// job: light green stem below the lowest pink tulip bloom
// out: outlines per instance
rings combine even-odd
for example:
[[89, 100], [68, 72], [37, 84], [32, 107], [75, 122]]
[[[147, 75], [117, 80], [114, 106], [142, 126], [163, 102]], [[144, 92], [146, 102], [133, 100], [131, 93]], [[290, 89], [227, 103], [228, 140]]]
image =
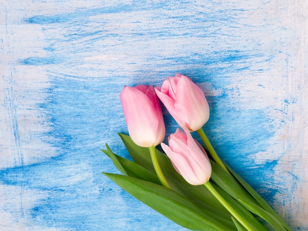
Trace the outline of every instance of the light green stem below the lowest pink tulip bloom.
[[243, 219], [243, 217], [241, 217], [241, 215], [238, 214], [238, 212], [228, 202], [226, 202], [226, 200], [224, 200], [224, 198], [216, 191], [210, 181], [207, 181], [204, 185], [213, 194], [213, 196], [231, 213], [231, 215], [236, 220], [238, 220], [242, 224], [242, 226], [245, 227], [246, 230], [255, 231], [255, 229], [251, 227], [251, 225], [246, 222], [246, 220]]

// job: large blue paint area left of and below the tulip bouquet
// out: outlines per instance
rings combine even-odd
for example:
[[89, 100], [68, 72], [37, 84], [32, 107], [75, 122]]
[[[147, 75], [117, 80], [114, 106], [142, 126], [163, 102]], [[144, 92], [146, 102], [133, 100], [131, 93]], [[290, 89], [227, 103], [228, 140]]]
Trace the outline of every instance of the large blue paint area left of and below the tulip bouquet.
[[[138, 230], [154, 216], [155, 220], [159, 218], [157, 229], [167, 225], [177, 230], [178, 225], [133, 199], [101, 173], [116, 171], [100, 151], [105, 148], [102, 137], [116, 153], [125, 153], [116, 134], [125, 129], [119, 101], [123, 85], [110, 88], [107, 81], [93, 85], [92, 81], [64, 76], [53, 76], [52, 85], [48, 103], [41, 107], [52, 115], [48, 121], [52, 124], [50, 136], [57, 141], [52, 145], [60, 155], [0, 171], [2, 184], [27, 186], [48, 195], [31, 209], [31, 223], [64, 230]], [[122, 200], [115, 201], [115, 197]], [[126, 222], [140, 214], [143, 219], [138, 223]]]

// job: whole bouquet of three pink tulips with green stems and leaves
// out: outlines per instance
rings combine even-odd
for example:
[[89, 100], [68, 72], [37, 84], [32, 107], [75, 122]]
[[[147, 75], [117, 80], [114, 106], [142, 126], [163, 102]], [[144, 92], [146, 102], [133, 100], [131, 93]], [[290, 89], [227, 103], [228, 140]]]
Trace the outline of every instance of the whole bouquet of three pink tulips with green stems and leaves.
[[[291, 231], [274, 209], [217, 155], [202, 126], [203, 91], [181, 74], [162, 87], [124, 86], [120, 94], [129, 136], [119, 134], [133, 161], [102, 151], [122, 174], [104, 173], [129, 194], [190, 230]], [[162, 143], [160, 101], [179, 126]], [[190, 132], [197, 131], [203, 144]], [[156, 149], [160, 144], [161, 152]]]

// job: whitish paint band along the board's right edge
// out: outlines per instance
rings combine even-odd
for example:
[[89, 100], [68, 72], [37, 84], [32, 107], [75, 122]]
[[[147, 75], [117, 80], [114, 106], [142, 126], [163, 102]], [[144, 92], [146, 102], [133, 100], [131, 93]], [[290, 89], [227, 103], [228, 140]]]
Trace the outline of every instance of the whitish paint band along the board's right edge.
[[[273, 172], [277, 182], [273, 188], [278, 190], [275, 208], [296, 227], [307, 225], [308, 220], [308, 3], [271, 1], [265, 7], [263, 14], [252, 15], [247, 24], [266, 21], [275, 27], [255, 31], [251, 34], [255, 38], [250, 38], [262, 38], [264, 54], [274, 57], [271, 67], [259, 74], [247, 70], [232, 76], [230, 89], [234, 91], [230, 96], [234, 108], [262, 109], [273, 120], [276, 134], [268, 141], [268, 149], [250, 158], [256, 164], [277, 161]], [[254, 69], [264, 68], [257, 63]], [[279, 182], [288, 182], [284, 184], [288, 188]]]

